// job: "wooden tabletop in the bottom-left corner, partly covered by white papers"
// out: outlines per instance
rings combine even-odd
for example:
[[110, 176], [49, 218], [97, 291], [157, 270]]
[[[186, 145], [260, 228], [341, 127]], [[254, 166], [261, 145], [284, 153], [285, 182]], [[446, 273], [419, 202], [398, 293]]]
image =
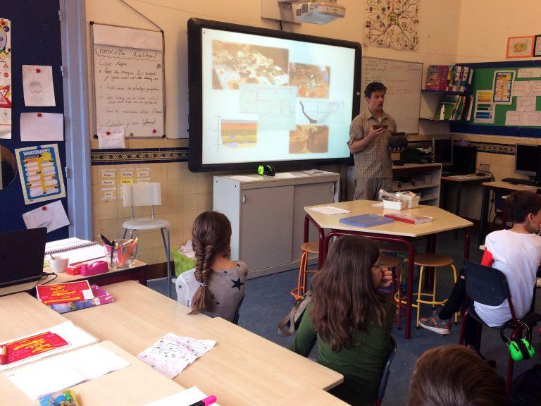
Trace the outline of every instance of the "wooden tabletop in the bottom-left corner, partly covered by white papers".
[[[185, 389], [152, 369], [129, 352], [109, 341], [97, 343], [130, 362], [130, 366], [73, 386], [77, 400], [85, 406], [147, 405]], [[19, 388], [0, 373], [0, 403], [2, 405], [35, 406]], [[325, 405], [325, 403], [321, 403]]]

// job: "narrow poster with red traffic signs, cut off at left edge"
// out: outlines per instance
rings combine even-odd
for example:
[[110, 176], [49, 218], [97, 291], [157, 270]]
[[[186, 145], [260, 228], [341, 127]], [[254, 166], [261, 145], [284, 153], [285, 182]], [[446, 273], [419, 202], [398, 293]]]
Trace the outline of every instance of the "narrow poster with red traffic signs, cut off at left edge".
[[0, 138], [11, 138], [11, 22], [0, 18]]

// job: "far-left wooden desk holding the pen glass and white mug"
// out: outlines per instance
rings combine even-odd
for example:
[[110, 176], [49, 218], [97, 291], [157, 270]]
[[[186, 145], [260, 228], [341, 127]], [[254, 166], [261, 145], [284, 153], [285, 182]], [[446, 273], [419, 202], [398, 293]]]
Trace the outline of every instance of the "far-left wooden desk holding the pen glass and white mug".
[[[104, 258], [102, 258], [104, 259]], [[99, 261], [99, 259], [93, 259], [90, 262]], [[53, 269], [47, 267], [43, 269], [44, 272], [52, 273]], [[87, 279], [89, 283], [96, 283], [97, 285], [108, 285], [110, 283], [118, 283], [122, 281], [135, 280], [139, 281], [142, 285], [147, 285], [147, 264], [136, 260], [133, 266], [126, 269], [111, 269], [107, 273], [100, 273], [94, 276], [81, 276], [81, 275], [69, 275], [66, 272], [58, 273], [58, 277], [52, 280], [52, 276], [47, 276], [39, 281], [39, 285], [43, 285], [46, 282], [49, 283], [66, 283], [75, 281], [84, 281]], [[0, 288], [0, 297], [4, 295], [11, 295], [12, 293], [25, 292], [32, 290], [36, 285], [36, 281], [18, 283], [17, 285], [7, 286], [6, 288]]]

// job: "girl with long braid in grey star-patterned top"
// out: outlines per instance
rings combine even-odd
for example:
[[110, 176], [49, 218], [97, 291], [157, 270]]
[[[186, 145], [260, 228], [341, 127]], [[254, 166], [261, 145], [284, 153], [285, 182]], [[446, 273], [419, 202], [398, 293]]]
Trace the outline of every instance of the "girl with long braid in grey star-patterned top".
[[244, 297], [248, 269], [244, 262], [232, 262], [231, 224], [218, 211], [199, 214], [192, 228], [197, 264], [180, 273], [176, 288], [178, 302], [192, 308], [190, 314], [204, 313], [233, 321]]

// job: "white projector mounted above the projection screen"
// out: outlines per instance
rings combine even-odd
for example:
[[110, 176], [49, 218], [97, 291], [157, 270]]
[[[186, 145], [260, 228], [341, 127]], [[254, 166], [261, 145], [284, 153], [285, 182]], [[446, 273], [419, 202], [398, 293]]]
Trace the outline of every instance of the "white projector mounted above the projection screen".
[[272, 20], [326, 24], [345, 15], [337, 0], [261, 0], [261, 17]]

